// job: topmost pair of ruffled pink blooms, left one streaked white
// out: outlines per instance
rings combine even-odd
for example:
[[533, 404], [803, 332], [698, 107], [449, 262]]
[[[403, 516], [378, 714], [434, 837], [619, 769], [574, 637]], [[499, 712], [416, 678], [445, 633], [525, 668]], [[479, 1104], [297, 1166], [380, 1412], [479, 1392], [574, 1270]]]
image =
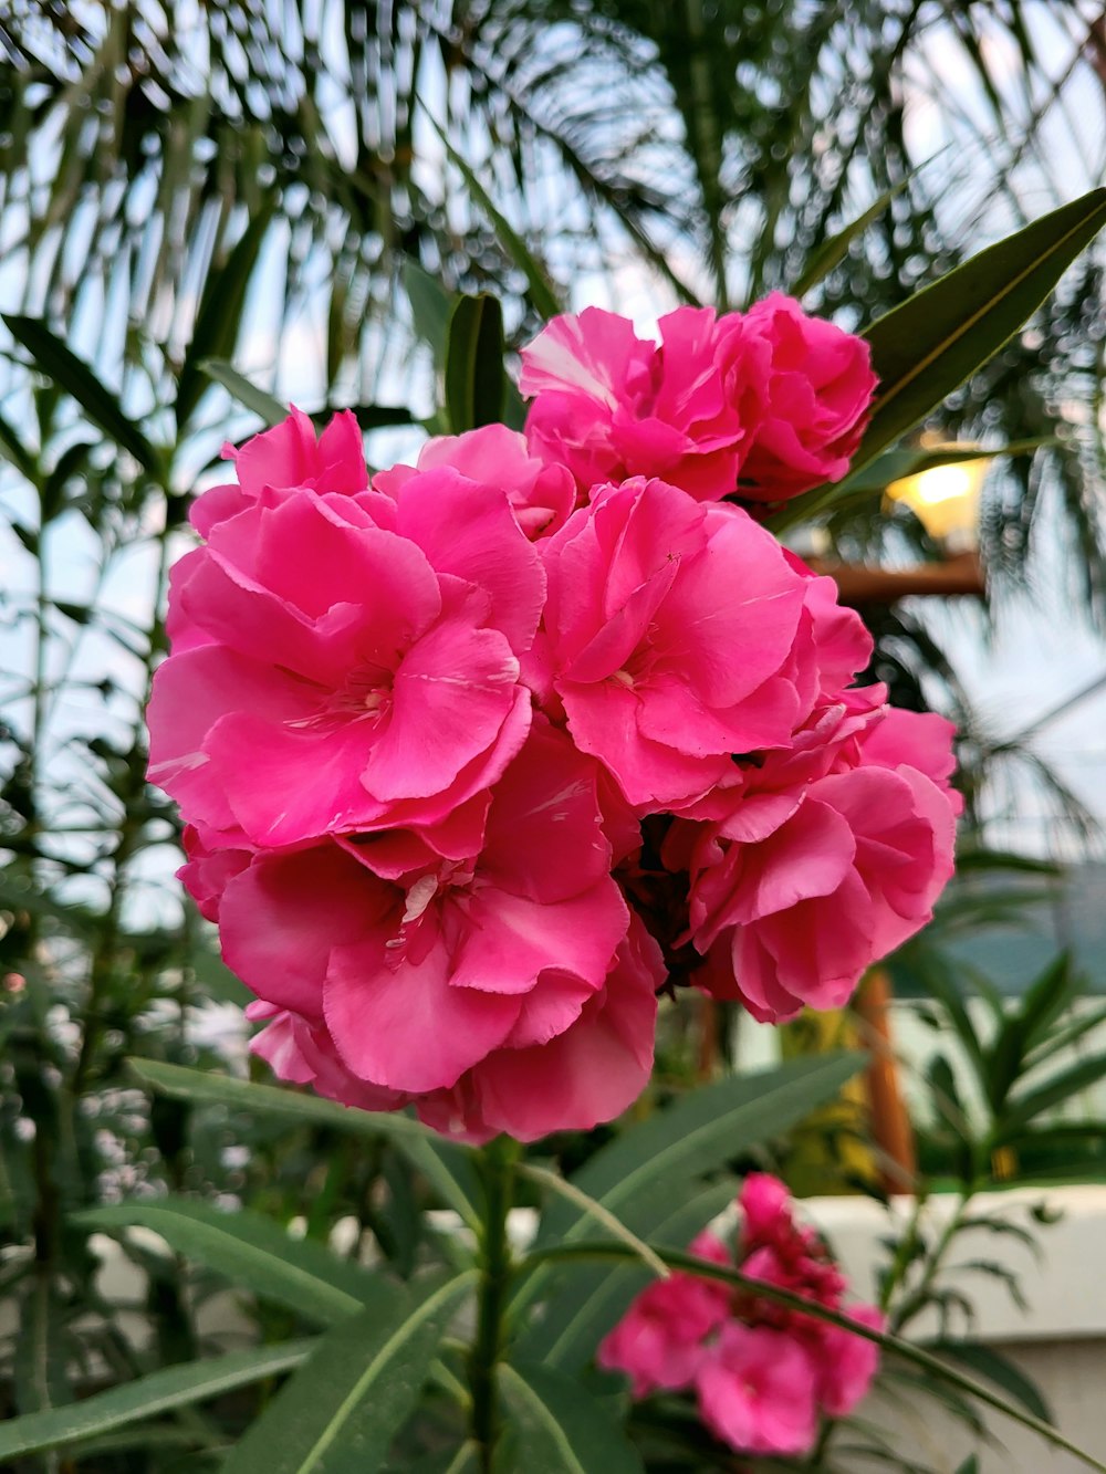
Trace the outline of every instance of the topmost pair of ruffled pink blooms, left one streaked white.
[[845, 475], [876, 386], [863, 339], [779, 292], [745, 315], [681, 307], [659, 326], [655, 345], [587, 308], [522, 349], [537, 455], [582, 491], [659, 476], [699, 501], [783, 501]]

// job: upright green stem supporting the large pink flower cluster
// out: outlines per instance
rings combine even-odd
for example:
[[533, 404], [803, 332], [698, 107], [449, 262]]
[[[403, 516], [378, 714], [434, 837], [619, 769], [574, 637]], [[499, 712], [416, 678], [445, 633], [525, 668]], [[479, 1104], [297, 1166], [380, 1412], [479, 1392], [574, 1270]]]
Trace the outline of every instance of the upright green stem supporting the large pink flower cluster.
[[479, 1449], [481, 1474], [491, 1474], [498, 1437], [495, 1366], [503, 1355], [504, 1310], [513, 1272], [507, 1240], [518, 1144], [509, 1136], [488, 1142], [481, 1157], [485, 1213], [479, 1237], [481, 1281], [476, 1340], [469, 1356], [472, 1440]]

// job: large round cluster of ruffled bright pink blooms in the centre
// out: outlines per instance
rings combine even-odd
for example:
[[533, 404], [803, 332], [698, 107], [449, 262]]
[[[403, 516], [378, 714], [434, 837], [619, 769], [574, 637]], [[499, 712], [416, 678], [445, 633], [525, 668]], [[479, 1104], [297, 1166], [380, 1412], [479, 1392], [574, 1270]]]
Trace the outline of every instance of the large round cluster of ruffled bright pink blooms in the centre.
[[585, 1129], [667, 974], [786, 1019], [929, 917], [950, 728], [851, 687], [860, 619], [727, 500], [844, 473], [867, 349], [779, 296], [662, 329], [553, 321], [525, 436], [370, 482], [351, 414], [293, 411], [196, 500], [150, 777], [282, 1077]]

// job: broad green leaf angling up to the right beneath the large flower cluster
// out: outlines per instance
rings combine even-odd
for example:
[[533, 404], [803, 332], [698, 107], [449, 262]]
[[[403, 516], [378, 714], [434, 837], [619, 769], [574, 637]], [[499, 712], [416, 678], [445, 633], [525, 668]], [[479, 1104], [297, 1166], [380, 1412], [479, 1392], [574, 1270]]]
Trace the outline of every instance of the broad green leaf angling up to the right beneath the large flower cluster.
[[[858, 1054], [823, 1054], [702, 1086], [603, 1147], [571, 1181], [634, 1232], [650, 1232], [633, 1216], [639, 1204], [652, 1200], [655, 1212], [665, 1212], [686, 1182], [802, 1120], [863, 1063]], [[535, 1243], [560, 1243], [590, 1228], [578, 1209], [556, 1203], [543, 1215]]]

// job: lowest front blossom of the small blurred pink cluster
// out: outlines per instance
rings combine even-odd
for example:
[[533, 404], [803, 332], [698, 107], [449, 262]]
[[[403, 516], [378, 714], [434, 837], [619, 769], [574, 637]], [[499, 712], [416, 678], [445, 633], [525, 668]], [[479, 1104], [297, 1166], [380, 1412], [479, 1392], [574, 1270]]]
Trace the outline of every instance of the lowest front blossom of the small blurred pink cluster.
[[730, 1321], [695, 1378], [699, 1412], [742, 1453], [807, 1453], [817, 1436], [817, 1371], [785, 1331]]

